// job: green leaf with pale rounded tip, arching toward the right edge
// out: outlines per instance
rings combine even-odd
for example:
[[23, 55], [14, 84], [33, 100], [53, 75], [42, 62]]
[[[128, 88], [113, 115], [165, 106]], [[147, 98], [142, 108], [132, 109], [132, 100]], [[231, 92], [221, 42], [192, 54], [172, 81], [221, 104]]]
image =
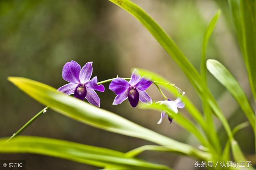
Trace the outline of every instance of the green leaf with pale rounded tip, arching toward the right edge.
[[244, 111], [246, 117], [248, 118], [252, 128], [255, 130], [255, 116], [250, 106], [250, 103], [236, 81], [232, 74], [222, 65], [219, 61], [214, 59], [209, 59], [207, 61], [207, 68], [212, 73], [212, 75], [228, 89], [231, 95], [234, 97], [236, 102], [240, 105], [241, 109]]

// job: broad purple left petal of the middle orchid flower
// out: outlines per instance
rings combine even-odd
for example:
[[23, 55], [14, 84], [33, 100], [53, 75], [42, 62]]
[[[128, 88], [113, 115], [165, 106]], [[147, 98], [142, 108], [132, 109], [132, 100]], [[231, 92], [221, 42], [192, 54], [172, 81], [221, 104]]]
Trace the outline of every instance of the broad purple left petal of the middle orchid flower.
[[122, 78], [116, 78], [112, 80], [109, 85], [109, 89], [114, 91], [116, 95], [121, 95], [129, 87], [130, 87], [130, 84], [128, 83], [128, 81]]

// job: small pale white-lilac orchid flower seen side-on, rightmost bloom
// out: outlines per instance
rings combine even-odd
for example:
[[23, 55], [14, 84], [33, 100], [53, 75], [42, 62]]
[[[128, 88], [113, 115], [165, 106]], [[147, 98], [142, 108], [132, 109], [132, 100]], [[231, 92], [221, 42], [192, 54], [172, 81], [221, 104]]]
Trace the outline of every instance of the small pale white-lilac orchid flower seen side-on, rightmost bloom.
[[[182, 92], [182, 96], [185, 94], [185, 92]], [[174, 111], [174, 113], [178, 113], [178, 108], [182, 109], [185, 107], [185, 104], [181, 101], [181, 99], [178, 97], [176, 100], [165, 100], [165, 101], [158, 101], [156, 103], [159, 103], [160, 105], [166, 105], [169, 109], [171, 109], [172, 111]], [[164, 119], [164, 116], [166, 116], [170, 122], [170, 124], [172, 123], [172, 118], [170, 118], [167, 114], [166, 111], [162, 111], [161, 112], [161, 118], [158, 121], [157, 124], [162, 123], [162, 120]]]

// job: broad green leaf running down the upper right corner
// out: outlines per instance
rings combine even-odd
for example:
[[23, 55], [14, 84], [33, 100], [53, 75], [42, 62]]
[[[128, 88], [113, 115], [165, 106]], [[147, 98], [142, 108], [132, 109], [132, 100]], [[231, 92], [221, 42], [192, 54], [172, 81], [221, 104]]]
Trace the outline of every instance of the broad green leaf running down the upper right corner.
[[256, 2], [254, 0], [229, 0], [238, 43], [256, 100]]

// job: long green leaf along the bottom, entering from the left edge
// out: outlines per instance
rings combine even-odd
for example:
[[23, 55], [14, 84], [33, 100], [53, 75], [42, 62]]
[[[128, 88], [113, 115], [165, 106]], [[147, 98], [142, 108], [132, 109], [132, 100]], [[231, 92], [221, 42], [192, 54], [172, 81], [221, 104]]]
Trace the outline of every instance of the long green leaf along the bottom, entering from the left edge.
[[54, 156], [93, 166], [108, 165], [133, 169], [169, 169], [167, 166], [127, 158], [122, 152], [65, 140], [18, 136], [9, 142], [0, 139], [0, 153], [32, 153]]

